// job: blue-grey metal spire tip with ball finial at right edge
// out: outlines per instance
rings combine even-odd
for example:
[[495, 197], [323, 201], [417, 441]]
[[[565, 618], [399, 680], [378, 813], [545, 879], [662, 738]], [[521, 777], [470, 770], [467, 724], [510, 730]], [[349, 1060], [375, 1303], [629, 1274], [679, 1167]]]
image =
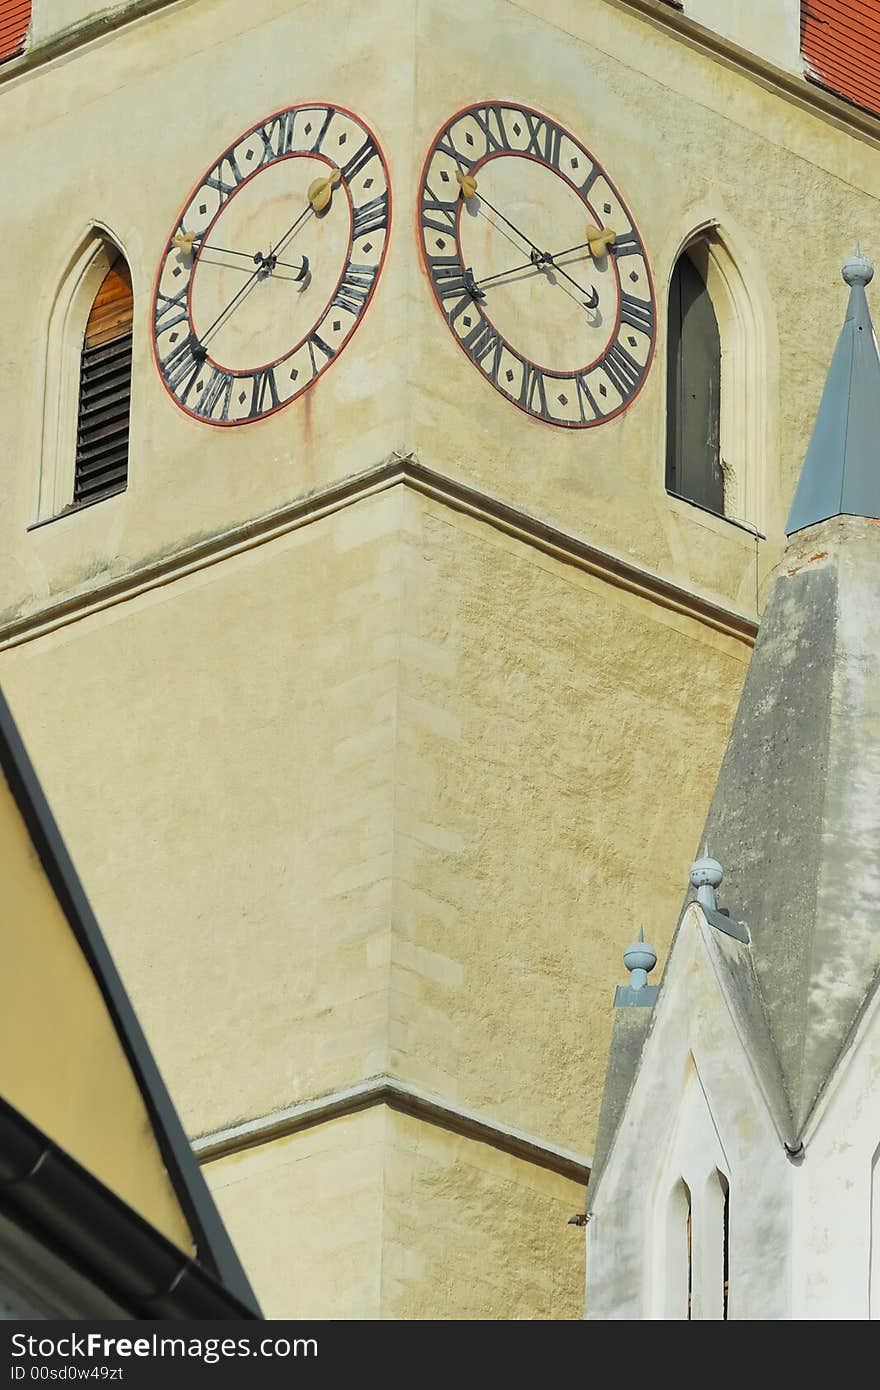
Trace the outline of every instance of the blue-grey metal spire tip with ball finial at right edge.
[[829, 367], [785, 532], [836, 516], [880, 516], [880, 356], [865, 286], [874, 268], [856, 247], [842, 267], [847, 318]]

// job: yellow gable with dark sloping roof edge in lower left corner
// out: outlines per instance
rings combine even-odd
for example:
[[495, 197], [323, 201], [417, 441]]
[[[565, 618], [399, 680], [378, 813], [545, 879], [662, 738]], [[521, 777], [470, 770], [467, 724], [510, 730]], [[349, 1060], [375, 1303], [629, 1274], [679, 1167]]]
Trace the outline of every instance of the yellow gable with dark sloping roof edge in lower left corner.
[[259, 1316], [3, 695], [0, 771], [0, 1215], [114, 1297], [136, 1248], [153, 1316]]

